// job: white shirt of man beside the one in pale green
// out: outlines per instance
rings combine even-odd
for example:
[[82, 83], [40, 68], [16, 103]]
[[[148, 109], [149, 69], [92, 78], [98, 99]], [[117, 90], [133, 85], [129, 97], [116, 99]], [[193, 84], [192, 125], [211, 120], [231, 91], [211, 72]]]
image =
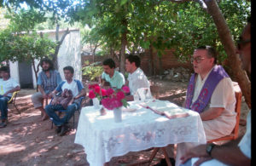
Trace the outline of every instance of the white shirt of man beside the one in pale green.
[[137, 89], [140, 88], [148, 88], [149, 89], [149, 81], [145, 76], [143, 70], [141, 68], [137, 68], [135, 72], [129, 73], [127, 80], [129, 81], [129, 88], [131, 94], [133, 95], [137, 92]]

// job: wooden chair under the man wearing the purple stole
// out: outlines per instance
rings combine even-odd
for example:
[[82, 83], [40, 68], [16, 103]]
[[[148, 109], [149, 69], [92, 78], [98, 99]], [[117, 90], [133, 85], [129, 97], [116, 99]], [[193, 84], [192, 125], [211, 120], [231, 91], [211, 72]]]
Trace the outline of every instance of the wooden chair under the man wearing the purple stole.
[[238, 85], [238, 83], [233, 82], [233, 86], [235, 89], [235, 94], [236, 94], [236, 107], [235, 107], [235, 112], [236, 112], [236, 125], [235, 128], [233, 129], [232, 133], [230, 135], [214, 139], [214, 140], [208, 140], [207, 143], [212, 143], [212, 142], [217, 142], [221, 140], [236, 140], [238, 137], [239, 133], [239, 121], [240, 121], [240, 114], [241, 114], [241, 89]]

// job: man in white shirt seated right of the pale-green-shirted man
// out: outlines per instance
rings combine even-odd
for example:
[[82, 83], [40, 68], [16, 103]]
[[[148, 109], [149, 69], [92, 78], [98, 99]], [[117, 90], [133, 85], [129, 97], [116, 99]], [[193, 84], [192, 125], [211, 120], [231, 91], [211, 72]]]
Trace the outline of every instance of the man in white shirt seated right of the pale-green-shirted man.
[[131, 95], [126, 96], [126, 100], [133, 100], [133, 95], [140, 88], [150, 88], [150, 83], [143, 70], [140, 68], [141, 60], [137, 55], [130, 54], [125, 58], [125, 70], [129, 72], [126, 86], [129, 86]]

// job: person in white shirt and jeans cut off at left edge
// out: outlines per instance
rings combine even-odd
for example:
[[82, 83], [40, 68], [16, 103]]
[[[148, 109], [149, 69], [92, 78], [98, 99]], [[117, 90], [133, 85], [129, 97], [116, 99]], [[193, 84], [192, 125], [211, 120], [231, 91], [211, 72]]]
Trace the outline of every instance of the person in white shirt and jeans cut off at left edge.
[[2, 76], [2, 79], [0, 79], [0, 128], [4, 128], [8, 120], [8, 101], [11, 99], [13, 92], [20, 90], [20, 85], [10, 77], [8, 66], [1, 67], [0, 75]]

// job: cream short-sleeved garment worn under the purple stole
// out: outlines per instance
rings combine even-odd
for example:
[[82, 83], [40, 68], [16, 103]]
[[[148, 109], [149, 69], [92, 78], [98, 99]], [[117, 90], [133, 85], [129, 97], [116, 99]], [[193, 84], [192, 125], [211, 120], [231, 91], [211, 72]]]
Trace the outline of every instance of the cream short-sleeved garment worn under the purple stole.
[[[198, 95], [200, 94], [210, 72], [207, 73], [204, 80], [202, 80], [201, 76], [198, 74], [192, 103], [197, 100]], [[207, 111], [209, 107], [221, 107], [224, 108], [224, 111], [220, 116], [212, 120], [203, 121], [207, 140], [216, 139], [224, 135], [230, 135], [236, 125], [236, 95], [230, 77], [224, 77], [221, 81], [219, 81], [218, 85], [213, 90], [211, 100], [204, 111]]]

